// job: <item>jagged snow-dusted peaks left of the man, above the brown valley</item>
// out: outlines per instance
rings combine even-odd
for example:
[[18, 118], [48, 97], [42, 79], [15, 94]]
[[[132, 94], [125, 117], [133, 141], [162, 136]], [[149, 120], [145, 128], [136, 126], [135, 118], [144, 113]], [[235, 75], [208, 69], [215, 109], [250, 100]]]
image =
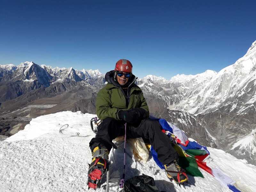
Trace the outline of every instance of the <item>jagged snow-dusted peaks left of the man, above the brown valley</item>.
[[[78, 73], [78, 74], [77, 74]], [[50, 84], [62, 83], [65, 87], [93, 85], [102, 87], [105, 83], [103, 75], [99, 70], [78, 71], [71, 68], [52, 68], [47, 65], [37, 65], [33, 61], [20, 63], [19, 66], [1, 65], [0, 83], [4, 90], [0, 94], [0, 101], [14, 99], [22, 94]]]

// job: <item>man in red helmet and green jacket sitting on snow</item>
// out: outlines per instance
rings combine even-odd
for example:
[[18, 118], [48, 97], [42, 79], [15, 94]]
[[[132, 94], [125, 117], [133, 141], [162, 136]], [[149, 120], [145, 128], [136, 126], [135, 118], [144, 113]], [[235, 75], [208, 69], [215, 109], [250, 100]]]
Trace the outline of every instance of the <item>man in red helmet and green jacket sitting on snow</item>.
[[161, 131], [156, 120], [148, 119], [148, 105], [140, 87], [135, 83], [132, 63], [129, 60], [116, 62], [115, 70], [105, 75], [108, 84], [103, 87], [96, 99], [96, 113], [103, 120], [98, 132], [90, 141], [92, 163], [88, 171], [88, 185], [95, 186], [106, 172], [108, 154], [112, 140], [125, 134], [127, 138], [142, 137], [149, 141], [157, 152], [158, 159], [164, 164], [166, 175], [176, 183], [188, 181], [183, 169], [177, 164], [178, 154], [172, 147], [170, 139]]

